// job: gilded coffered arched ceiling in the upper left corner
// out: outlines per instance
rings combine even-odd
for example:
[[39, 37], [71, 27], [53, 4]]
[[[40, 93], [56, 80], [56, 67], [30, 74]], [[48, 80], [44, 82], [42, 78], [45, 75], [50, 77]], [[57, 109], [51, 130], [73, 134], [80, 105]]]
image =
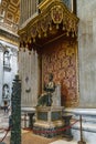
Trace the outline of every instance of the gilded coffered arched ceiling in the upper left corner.
[[15, 32], [20, 19], [20, 0], [1, 0], [0, 25]]

